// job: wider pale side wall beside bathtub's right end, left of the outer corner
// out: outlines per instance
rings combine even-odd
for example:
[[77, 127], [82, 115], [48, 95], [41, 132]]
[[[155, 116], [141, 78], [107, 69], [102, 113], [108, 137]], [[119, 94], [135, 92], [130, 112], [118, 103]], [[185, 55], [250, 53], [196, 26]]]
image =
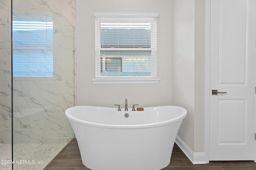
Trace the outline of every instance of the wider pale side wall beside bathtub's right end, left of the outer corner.
[[194, 150], [194, 0], [173, 0], [172, 104], [187, 109], [178, 136]]

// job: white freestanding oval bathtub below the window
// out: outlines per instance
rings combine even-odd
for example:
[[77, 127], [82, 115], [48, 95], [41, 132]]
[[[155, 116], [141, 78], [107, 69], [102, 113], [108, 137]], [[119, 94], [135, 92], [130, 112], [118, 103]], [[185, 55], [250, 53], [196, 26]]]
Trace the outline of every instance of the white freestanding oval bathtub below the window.
[[75, 106], [65, 113], [86, 167], [159, 170], [170, 163], [174, 141], [187, 111], [178, 106], [146, 107], [144, 111]]

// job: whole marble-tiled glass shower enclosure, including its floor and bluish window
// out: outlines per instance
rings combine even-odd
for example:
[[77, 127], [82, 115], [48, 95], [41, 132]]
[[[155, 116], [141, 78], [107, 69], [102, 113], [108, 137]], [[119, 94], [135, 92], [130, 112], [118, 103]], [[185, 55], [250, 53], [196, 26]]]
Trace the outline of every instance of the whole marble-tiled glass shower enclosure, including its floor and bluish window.
[[0, 0], [0, 169], [42, 170], [74, 137], [74, 3]]

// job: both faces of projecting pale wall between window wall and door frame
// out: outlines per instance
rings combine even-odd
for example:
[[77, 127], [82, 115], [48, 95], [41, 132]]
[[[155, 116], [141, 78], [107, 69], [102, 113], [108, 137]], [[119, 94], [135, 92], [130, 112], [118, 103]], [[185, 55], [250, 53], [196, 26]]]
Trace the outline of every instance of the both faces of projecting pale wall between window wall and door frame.
[[172, 37], [172, 104], [188, 111], [178, 136], [204, 152], [204, 0], [173, 0]]

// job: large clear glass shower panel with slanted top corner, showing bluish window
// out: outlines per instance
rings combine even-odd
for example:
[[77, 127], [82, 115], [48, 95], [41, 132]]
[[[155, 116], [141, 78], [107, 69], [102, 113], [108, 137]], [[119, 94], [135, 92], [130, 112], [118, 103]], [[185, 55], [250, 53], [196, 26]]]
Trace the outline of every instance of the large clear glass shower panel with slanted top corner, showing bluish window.
[[50, 0], [13, 0], [12, 39], [13, 159], [27, 161], [13, 166], [41, 170], [74, 137], [74, 27]]

